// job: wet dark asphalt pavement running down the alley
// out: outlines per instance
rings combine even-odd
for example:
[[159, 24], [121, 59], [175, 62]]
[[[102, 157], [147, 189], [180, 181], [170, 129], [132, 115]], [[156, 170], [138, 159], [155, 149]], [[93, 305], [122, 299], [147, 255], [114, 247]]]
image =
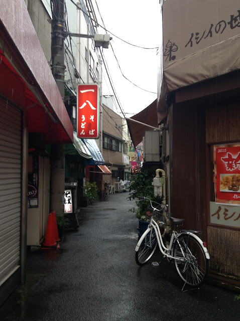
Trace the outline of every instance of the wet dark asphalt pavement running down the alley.
[[0, 307], [15, 321], [239, 321], [235, 292], [204, 283], [182, 292], [173, 264], [135, 262], [138, 221], [129, 193], [81, 208], [59, 250], [29, 252], [27, 284]]

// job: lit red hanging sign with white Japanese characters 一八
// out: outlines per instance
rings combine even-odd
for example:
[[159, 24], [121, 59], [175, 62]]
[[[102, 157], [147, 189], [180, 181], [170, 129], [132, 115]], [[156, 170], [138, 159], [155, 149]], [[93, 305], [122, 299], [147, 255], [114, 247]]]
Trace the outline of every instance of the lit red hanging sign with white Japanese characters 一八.
[[92, 139], [99, 137], [98, 86], [96, 84], [78, 85], [77, 136]]

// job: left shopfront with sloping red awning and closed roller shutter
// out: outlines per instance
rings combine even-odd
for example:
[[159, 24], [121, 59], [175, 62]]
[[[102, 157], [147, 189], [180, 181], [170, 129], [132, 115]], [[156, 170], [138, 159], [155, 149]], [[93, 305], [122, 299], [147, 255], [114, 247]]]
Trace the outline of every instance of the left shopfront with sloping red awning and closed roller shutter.
[[[49, 159], [42, 147], [46, 143], [73, 141], [71, 121], [25, 1], [3, 1], [2, 6], [0, 13], [1, 302], [20, 282], [25, 282], [29, 209], [33, 211], [32, 218], [40, 219], [38, 238], [44, 234], [45, 213], [49, 212], [49, 208], [44, 207], [49, 201], [45, 202], [44, 199], [49, 199], [49, 193], [48, 190], [46, 194], [43, 191], [45, 184], [48, 186], [49, 175], [44, 176], [43, 173], [49, 171]], [[31, 184], [29, 184], [30, 178]]]

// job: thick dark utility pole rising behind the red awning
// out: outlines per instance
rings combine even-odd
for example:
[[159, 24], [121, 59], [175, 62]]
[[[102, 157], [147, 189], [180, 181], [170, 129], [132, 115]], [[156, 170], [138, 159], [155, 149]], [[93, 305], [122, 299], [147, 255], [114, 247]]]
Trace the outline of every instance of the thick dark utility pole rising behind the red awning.
[[[52, 2], [52, 74], [64, 100], [64, 39], [65, 39], [65, 0]], [[50, 181], [50, 211], [64, 213], [65, 184], [65, 145], [52, 144], [51, 148], [51, 181]]]

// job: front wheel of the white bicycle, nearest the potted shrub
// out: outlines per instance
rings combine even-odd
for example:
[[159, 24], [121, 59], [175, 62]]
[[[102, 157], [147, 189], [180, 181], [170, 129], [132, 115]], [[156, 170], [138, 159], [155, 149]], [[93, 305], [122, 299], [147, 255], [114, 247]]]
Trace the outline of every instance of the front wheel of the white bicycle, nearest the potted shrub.
[[152, 230], [143, 238], [138, 251], [136, 252], [136, 262], [143, 265], [150, 260], [158, 244], [155, 230]]

